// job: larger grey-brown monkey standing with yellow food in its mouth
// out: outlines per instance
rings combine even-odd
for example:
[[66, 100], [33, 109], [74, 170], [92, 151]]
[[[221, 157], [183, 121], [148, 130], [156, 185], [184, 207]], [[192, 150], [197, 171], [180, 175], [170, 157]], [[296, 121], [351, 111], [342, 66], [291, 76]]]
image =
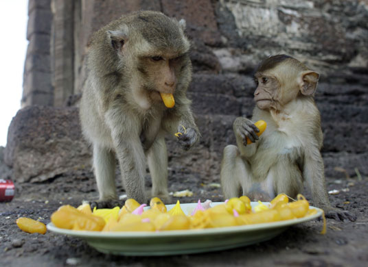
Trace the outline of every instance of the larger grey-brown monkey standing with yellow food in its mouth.
[[[185, 21], [161, 12], [135, 12], [93, 34], [89, 74], [80, 103], [84, 135], [93, 144], [98, 207], [117, 203], [115, 156], [128, 198], [145, 203], [146, 156], [152, 195], [168, 196], [168, 155], [164, 135], [183, 149], [198, 142], [198, 128], [185, 96], [192, 79]], [[174, 97], [170, 107], [161, 93]]]

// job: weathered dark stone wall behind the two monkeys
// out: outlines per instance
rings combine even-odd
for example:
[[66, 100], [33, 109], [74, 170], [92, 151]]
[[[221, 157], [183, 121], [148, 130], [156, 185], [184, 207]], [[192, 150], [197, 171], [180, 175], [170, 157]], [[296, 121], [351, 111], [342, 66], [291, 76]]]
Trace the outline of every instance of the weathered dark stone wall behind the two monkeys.
[[[89, 37], [109, 21], [141, 9], [185, 18], [186, 34], [192, 42], [194, 77], [188, 94], [203, 138], [191, 152], [181, 151], [169, 139], [170, 168], [186, 168], [203, 180], [218, 179], [222, 149], [235, 143], [233, 119], [251, 116], [255, 66], [268, 55], [286, 53], [321, 73], [316, 102], [325, 136], [326, 175], [355, 176], [356, 170], [368, 175], [367, 0], [30, 0], [30, 47], [23, 92], [23, 106], [29, 108], [21, 110], [14, 123], [18, 116], [26, 118], [23, 112], [31, 112], [33, 120], [43, 120], [47, 112], [36, 112], [39, 107], [33, 105], [58, 106], [56, 112], [66, 116], [52, 116], [60, 120], [53, 122], [56, 125], [63, 125], [66, 119], [78, 120], [63, 106], [78, 106], [86, 77], [84, 59]], [[78, 127], [78, 123], [74, 125]], [[21, 136], [13, 131], [23, 129], [10, 127], [5, 162], [14, 168], [20, 158], [16, 153], [21, 153], [24, 142], [12, 140]], [[54, 128], [47, 131], [47, 138], [58, 142], [58, 135], [51, 134]], [[67, 137], [63, 138], [65, 144]], [[27, 140], [27, 149], [42, 151], [40, 142]], [[7, 157], [7, 151], [12, 157]], [[37, 154], [40, 162], [45, 155]], [[82, 157], [89, 156], [83, 152]], [[26, 161], [27, 157], [22, 159]], [[54, 164], [60, 170], [60, 162]], [[64, 170], [67, 168], [71, 166]], [[15, 179], [39, 181], [55, 174], [40, 171]], [[25, 169], [19, 172], [27, 173]]]

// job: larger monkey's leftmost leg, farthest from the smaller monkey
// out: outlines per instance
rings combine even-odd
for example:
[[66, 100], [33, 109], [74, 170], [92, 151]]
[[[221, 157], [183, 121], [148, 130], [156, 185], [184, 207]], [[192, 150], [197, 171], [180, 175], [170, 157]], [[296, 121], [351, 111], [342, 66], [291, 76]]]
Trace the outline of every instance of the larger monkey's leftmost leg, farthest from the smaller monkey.
[[[93, 145], [93, 166], [97, 189], [100, 194], [98, 203], [91, 203], [97, 207], [110, 207], [117, 205], [117, 194], [115, 186], [115, 154], [99, 144]], [[110, 205], [111, 202], [111, 205]]]

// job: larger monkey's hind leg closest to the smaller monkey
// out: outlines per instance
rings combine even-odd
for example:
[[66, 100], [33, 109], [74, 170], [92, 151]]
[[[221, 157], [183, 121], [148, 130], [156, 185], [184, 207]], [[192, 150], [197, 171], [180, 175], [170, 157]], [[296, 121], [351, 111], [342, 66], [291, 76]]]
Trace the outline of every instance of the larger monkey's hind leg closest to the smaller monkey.
[[148, 167], [152, 178], [152, 196], [168, 199], [168, 151], [163, 137], [157, 138], [148, 151]]

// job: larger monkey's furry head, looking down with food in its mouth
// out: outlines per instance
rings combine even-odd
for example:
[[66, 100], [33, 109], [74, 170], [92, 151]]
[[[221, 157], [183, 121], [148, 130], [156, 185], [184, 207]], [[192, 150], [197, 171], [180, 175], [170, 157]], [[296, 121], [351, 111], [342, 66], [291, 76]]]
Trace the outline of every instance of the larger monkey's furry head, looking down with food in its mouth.
[[189, 84], [192, 65], [184, 29], [185, 22], [159, 12], [137, 12], [107, 32], [118, 67], [128, 73], [136, 101], [146, 107], [161, 101], [160, 93], [174, 94]]

